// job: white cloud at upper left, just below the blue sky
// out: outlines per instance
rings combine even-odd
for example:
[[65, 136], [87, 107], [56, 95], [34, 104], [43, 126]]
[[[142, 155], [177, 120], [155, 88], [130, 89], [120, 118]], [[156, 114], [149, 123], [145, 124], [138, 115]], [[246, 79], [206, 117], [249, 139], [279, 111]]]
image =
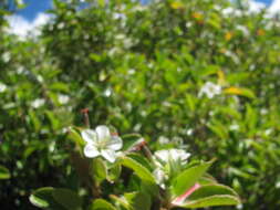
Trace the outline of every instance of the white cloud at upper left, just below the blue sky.
[[29, 34], [39, 35], [39, 28], [45, 24], [51, 19], [50, 14], [39, 13], [33, 21], [28, 21], [21, 15], [11, 15], [7, 20], [10, 24], [8, 32], [19, 35], [20, 38], [27, 38]]

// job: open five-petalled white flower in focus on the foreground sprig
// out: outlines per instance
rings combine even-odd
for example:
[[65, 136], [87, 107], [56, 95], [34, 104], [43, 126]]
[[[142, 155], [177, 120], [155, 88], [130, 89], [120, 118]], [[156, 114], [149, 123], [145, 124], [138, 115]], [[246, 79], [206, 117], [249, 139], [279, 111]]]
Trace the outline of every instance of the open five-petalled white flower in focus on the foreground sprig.
[[92, 129], [84, 129], [82, 137], [86, 141], [84, 155], [89, 158], [102, 156], [106, 160], [114, 162], [117, 153], [123, 147], [123, 140], [115, 135], [111, 135], [108, 127], [100, 125]]

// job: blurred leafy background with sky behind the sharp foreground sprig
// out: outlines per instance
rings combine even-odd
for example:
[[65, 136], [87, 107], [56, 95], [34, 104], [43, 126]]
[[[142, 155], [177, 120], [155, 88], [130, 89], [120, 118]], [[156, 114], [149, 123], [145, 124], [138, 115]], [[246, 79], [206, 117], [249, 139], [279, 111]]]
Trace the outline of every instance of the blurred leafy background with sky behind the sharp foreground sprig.
[[[217, 158], [242, 204], [280, 209], [279, 0], [0, 0], [1, 209], [77, 189], [66, 137], [106, 124]], [[1, 171], [0, 171], [1, 172]], [[219, 208], [214, 208], [219, 209]]]

